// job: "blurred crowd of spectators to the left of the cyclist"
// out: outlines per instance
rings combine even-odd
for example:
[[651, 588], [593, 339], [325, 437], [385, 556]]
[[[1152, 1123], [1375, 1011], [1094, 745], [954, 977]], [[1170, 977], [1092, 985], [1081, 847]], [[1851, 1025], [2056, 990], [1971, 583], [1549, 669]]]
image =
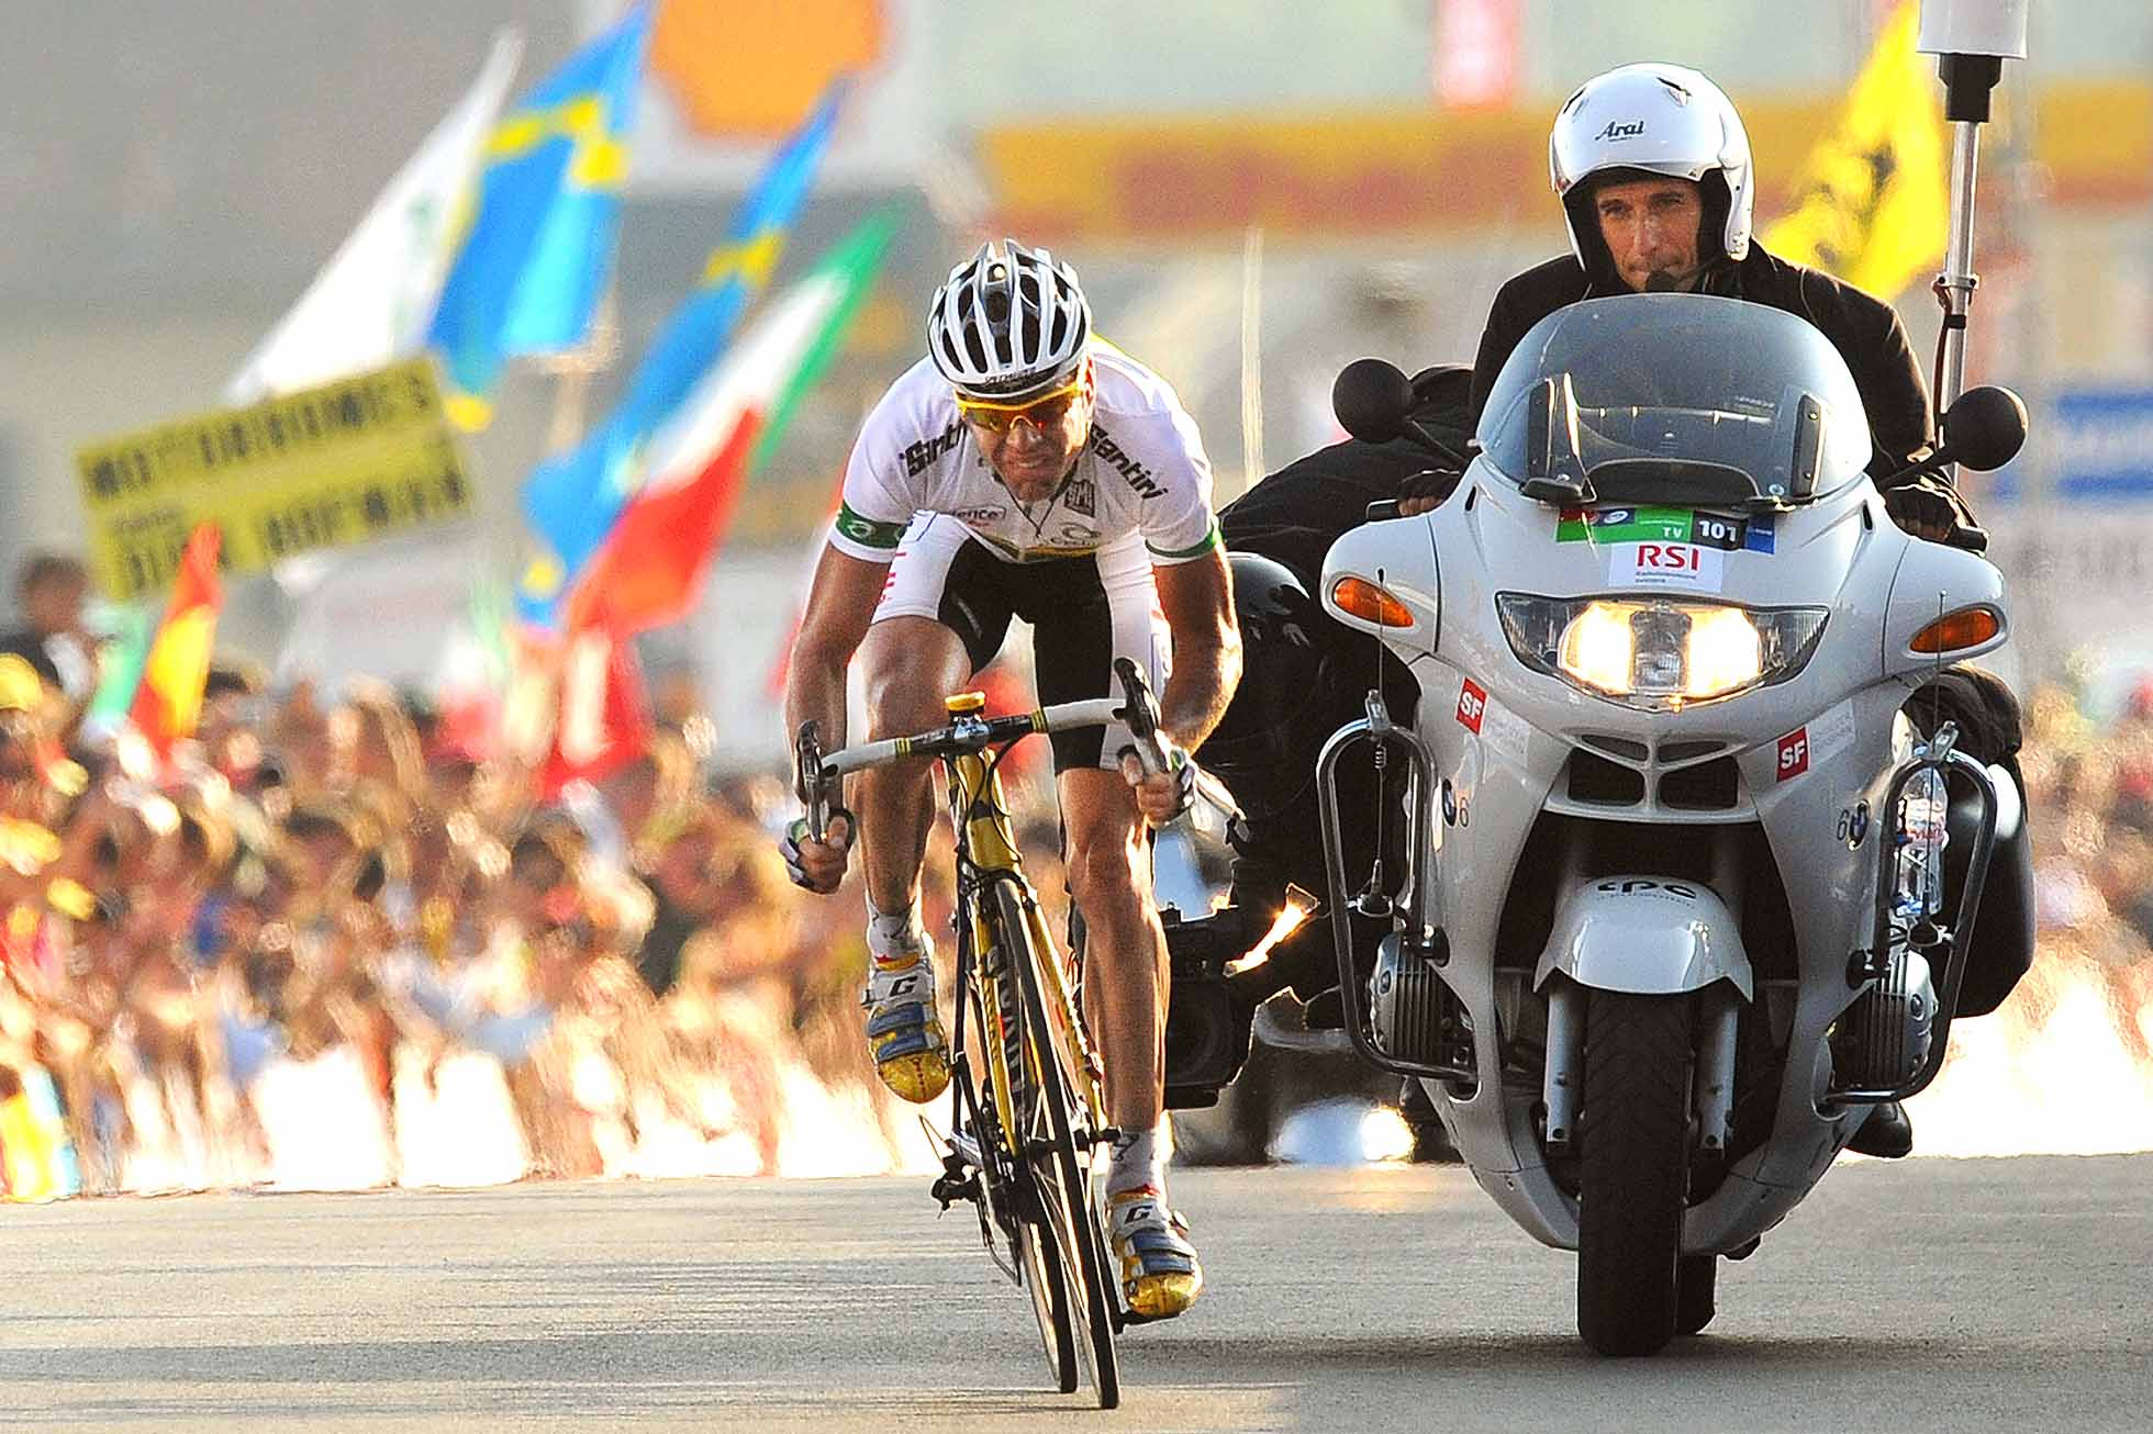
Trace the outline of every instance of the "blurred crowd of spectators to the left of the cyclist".
[[[52, 1186], [24, 1161], [39, 1096], [82, 1191], [127, 1189], [131, 1154], [179, 1130], [245, 1180], [269, 1165], [256, 1081], [332, 1049], [366, 1072], [392, 1156], [398, 1070], [431, 1081], [469, 1051], [504, 1070], [530, 1173], [599, 1173], [599, 1122], [635, 1141], [652, 1115], [745, 1137], [773, 1171], [788, 1068], [919, 1143], [859, 1038], [857, 891], [786, 883], [771, 827], [790, 795], [708, 777], [708, 719], [683, 713], [633, 762], [540, 799], [484, 721], [364, 683], [271, 691], [220, 661], [196, 736], [159, 756], [82, 728], [82, 568], [39, 558], [22, 588], [30, 624], [0, 639], [0, 1169], [17, 1191]], [[592, 1057], [609, 1098], [579, 1079]]]

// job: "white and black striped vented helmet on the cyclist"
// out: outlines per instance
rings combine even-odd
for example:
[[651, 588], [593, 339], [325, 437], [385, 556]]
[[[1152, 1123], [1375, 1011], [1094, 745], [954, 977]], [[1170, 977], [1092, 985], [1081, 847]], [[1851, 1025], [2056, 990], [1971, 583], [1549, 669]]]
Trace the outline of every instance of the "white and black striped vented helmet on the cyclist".
[[1066, 381], [1089, 336], [1076, 271], [1016, 239], [982, 243], [928, 306], [934, 368], [969, 398], [1023, 398]]

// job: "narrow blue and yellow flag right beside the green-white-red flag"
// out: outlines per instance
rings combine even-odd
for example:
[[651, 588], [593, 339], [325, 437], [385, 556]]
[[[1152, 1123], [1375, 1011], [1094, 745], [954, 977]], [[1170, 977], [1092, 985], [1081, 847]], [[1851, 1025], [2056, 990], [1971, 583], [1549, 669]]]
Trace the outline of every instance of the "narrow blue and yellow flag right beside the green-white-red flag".
[[[622, 504], [642, 484], [644, 444], [680, 409], [726, 349], [749, 299], [769, 284], [829, 146], [844, 90], [846, 80], [831, 84], [756, 179], [726, 241], [710, 252], [702, 282], [659, 329], [620, 405], [579, 448], [547, 459], [523, 484], [523, 515], [553, 553], [545, 564], [549, 581], [571, 581], [611, 532]], [[523, 596], [543, 594], [525, 584]]]

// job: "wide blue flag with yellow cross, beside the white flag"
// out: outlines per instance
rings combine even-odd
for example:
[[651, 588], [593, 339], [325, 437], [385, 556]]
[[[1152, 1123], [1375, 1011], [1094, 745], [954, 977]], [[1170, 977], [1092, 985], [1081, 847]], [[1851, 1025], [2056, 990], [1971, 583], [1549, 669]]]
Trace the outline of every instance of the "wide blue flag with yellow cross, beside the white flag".
[[568, 56], [487, 142], [472, 228], [428, 334], [465, 428], [493, 418], [506, 355], [573, 349], [590, 332], [614, 267], [650, 11], [635, 4]]

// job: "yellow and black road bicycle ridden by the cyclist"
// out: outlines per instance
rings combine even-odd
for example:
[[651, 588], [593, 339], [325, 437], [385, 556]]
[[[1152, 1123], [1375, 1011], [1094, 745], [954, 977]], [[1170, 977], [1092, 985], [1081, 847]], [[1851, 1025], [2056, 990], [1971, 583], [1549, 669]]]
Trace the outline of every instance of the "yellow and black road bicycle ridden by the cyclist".
[[1158, 704], [1135, 663], [1115, 661], [1122, 698], [984, 715], [982, 693], [945, 700], [949, 723], [825, 754], [816, 723], [794, 745], [807, 831], [842, 812], [846, 773], [941, 758], [956, 827], [956, 1023], [949, 1135], [934, 1197], [969, 1199], [997, 1268], [1031, 1296], [1049, 1374], [1061, 1393], [1089, 1384], [1122, 1402], [1113, 1339], [1135, 1320], [1120, 1298], [1094, 1189], [1104, 1120], [1102, 1070], [1083, 1021], [1081, 954], [1064, 960], [1025, 878], [1001, 790], [1001, 758], [1025, 736], [1122, 723], [1145, 771], [1163, 771]]

